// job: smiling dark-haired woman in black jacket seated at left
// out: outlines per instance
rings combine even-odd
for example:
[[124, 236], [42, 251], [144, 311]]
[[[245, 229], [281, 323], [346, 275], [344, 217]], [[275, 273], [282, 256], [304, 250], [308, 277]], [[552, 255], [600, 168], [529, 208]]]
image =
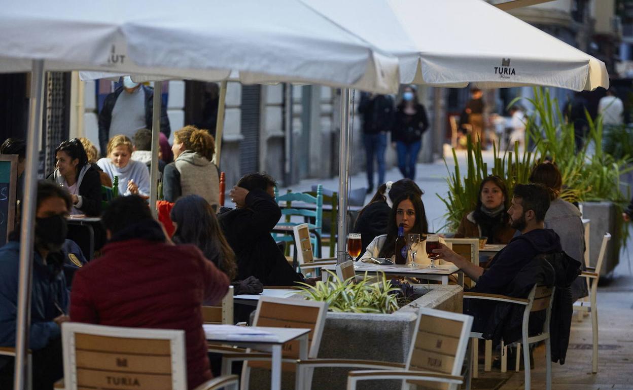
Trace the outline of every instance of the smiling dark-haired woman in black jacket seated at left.
[[85, 154], [84, 146], [73, 138], [55, 149], [56, 169], [49, 176], [70, 192], [73, 209], [70, 214], [101, 215], [101, 177]]

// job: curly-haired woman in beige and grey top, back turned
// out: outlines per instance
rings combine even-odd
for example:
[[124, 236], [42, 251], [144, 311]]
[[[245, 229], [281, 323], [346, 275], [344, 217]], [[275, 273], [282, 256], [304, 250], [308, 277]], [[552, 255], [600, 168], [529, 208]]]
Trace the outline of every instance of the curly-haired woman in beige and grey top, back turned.
[[215, 140], [206, 130], [185, 126], [173, 133], [174, 161], [165, 166], [163, 195], [176, 202], [185, 195], [199, 195], [214, 210], [220, 204], [220, 175], [211, 162]]

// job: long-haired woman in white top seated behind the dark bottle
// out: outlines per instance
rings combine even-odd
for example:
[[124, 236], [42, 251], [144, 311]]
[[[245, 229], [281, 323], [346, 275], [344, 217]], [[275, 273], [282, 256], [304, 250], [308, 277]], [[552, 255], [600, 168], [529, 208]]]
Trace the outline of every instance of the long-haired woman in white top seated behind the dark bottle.
[[403, 224], [405, 236], [407, 233], [425, 235], [429, 232], [429, 223], [424, 211], [424, 204], [417, 193], [403, 193], [394, 201], [389, 221], [387, 222], [387, 234], [374, 238], [367, 246], [367, 252], [360, 259], [385, 257], [386, 259], [394, 260], [396, 238], [398, 238], [398, 226], [400, 224]]

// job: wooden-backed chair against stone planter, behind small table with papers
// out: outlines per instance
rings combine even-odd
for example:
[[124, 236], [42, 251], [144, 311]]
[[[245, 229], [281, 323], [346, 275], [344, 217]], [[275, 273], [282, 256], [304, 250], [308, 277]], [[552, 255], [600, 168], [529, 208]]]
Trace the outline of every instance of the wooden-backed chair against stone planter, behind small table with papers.
[[[308, 334], [308, 358], [316, 358], [321, 344], [327, 302], [295, 300], [262, 296], [257, 304], [253, 326], [289, 327], [311, 329]], [[291, 341], [282, 348], [282, 371], [296, 372], [296, 388], [300, 389], [304, 381], [311, 381], [311, 370], [297, 370], [299, 341]], [[271, 354], [248, 350], [243, 354], [226, 355], [222, 358], [222, 374], [229, 372], [233, 362], [246, 360], [242, 366], [240, 388], [249, 388], [251, 368], [271, 369]]]

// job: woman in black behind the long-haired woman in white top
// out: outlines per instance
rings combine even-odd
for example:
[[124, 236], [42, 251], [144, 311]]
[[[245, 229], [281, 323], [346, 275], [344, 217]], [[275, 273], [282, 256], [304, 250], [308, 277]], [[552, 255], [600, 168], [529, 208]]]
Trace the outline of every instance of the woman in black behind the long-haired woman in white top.
[[422, 189], [410, 179], [387, 181], [378, 187], [378, 191], [373, 195], [372, 200], [358, 212], [356, 223], [354, 223], [353, 233], [360, 233], [361, 245], [360, 253], [365, 253], [367, 245], [374, 238], [387, 234], [387, 224], [391, 214], [392, 201], [399, 198], [405, 192], [414, 192], [422, 197]]

